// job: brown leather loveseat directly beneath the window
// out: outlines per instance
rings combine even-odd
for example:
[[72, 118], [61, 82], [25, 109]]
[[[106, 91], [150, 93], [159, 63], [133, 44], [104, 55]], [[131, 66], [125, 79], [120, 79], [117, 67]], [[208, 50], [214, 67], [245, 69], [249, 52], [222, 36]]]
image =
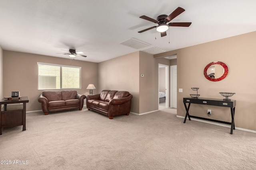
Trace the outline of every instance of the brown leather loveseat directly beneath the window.
[[78, 94], [76, 90], [44, 90], [38, 96], [38, 102], [42, 103], [42, 110], [48, 115], [54, 111], [82, 110], [85, 98], [85, 95]]

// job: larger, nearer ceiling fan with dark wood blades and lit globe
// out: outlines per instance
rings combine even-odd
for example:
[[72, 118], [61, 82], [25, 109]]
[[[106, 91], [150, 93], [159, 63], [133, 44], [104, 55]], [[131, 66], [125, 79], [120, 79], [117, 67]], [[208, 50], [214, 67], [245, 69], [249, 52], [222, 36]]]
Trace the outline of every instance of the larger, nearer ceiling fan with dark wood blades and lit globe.
[[140, 16], [140, 18], [142, 18], [144, 20], [148, 20], [148, 21], [157, 23], [158, 26], [143, 29], [142, 31], [138, 31], [138, 33], [143, 33], [144, 31], [148, 31], [150, 29], [156, 28], [156, 30], [161, 33], [161, 37], [164, 37], [164, 36], [166, 36], [166, 30], [168, 30], [168, 28], [170, 26], [172, 26], [172, 27], [189, 27], [191, 25], [191, 22], [171, 22], [171, 23], [168, 23], [184, 11], [185, 10], [183, 8], [178, 7], [169, 16], [160, 15], [156, 18], [156, 20], [153, 19], [153, 18], [150, 18], [148, 16]]

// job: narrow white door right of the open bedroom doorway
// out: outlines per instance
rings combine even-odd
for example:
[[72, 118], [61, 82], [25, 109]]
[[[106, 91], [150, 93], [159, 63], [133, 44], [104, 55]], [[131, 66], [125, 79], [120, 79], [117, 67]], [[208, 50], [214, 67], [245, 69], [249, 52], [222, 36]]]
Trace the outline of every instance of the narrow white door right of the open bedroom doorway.
[[170, 75], [171, 75], [171, 107], [177, 108], [177, 65], [170, 66]]

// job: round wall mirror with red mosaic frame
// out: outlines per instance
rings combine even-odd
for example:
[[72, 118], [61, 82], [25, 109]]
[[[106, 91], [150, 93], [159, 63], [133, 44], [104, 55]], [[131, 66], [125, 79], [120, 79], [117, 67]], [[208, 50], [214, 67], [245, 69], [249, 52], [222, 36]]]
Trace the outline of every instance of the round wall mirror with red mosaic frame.
[[204, 76], [210, 81], [218, 82], [228, 75], [228, 66], [220, 61], [207, 64], [204, 68]]

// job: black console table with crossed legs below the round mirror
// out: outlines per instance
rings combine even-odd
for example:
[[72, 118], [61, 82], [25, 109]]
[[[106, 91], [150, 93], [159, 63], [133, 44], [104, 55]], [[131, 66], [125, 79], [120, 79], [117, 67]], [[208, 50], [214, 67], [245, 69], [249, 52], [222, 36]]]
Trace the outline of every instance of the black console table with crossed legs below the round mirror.
[[[214, 121], [214, 122], [218, 122], [218, 123], [224, 123], [224, 124], [231, 125], [230, 134], [233, 134], [233, 129], [235, 129], [234, 115], [235, 115], [236, 100], [225, 101], [223, 99], [191, 98], [191, 97], [188, 97], [188, 98], [183, 98], [183, 103], [184, 103], [184, 106], [185, 106], [185, 109], [186, 109], [186, 116], [185, 116], [185, 119], [184, 119], [184, 123], [186, 123], [187, 117], [188, 117], [189, 120], [191, 120], [190, 117], [192, 117], [192, 118], [196, 118], [196, 119], [203, 119], [203, 120], [207, 120], [207, 121]], [[188, 103], [188, 107], [186, 105], [187, 103]], [[204, 117], [197, 117], [197, 116], [189, 115], [188, 111], [189, 111], [190, 104], [204, 104], [204, 105], [210, 105], [210, 106], [230, 107], [232, 121], [231, 122], [226, 122], [226, 121], [219, 121], [219, 120], [207, 119], [207, 118], [204, 118]]]

